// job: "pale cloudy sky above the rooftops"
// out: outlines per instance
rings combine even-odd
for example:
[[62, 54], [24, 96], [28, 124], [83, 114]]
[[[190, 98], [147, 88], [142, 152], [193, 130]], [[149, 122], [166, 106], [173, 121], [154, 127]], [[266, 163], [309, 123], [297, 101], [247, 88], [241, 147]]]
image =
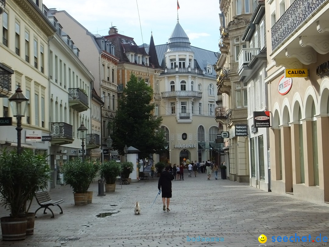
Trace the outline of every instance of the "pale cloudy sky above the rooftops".
[[[65, 10], [93, 34], [108, 35], [112, 22], [138, 45], [150, 43], [151, 31], [156, 45], [168, 42], [177, 23], [177, 0], [43, 0], [43, 4]], [[191, 45], [218, 52], [219, 1], [179, 0], [179, 5], [179, 23]]]

